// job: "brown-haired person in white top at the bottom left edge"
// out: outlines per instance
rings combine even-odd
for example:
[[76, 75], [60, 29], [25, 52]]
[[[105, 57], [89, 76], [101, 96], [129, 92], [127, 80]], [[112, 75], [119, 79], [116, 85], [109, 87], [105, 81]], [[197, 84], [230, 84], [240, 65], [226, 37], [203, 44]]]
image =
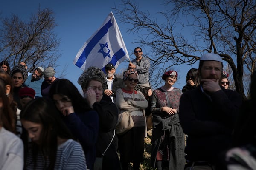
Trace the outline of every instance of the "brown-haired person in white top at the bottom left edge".
[[[13, 115], [9, 99], [6, 96], [6, 85], [0, 79], [0, 168], [1, 170], [23, 170], [23, 143], [13, 130], [10, 122]], [[11, 116], [8, 116], [8, 113]], [[10, 130], [10, 131], [9, 131]]]

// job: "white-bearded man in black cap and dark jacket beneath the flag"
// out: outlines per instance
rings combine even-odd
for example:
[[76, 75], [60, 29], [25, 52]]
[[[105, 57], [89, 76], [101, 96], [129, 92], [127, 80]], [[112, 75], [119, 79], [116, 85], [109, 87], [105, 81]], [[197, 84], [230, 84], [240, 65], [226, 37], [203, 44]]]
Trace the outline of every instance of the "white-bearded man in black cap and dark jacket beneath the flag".
[[106, 82], [104, 83], [104, 94], [110, 96], [113, 103], [116, 103], [116, 90], [122, 88], [123, 80], [116, 77], [114, 74], [116, 69], [112, 63], [105, 66]]

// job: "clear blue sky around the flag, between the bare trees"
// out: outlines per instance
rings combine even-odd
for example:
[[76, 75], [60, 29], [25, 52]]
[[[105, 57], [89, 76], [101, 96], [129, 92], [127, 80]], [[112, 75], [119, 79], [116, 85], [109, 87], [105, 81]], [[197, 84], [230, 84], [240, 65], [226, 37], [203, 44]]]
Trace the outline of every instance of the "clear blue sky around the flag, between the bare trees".
[[[164, 6], [161, 5], [161, 0], [140, 0], [137, 1], [140, 10], [148, 10], [151, 14], [156, 14], [158, 11], [163, 11]], [[0, 12], [1, 17], [8, 17], [10, 14], [15, 14], [26, 20], [30, 14], [36, 13], [38, 6], [41, 8], [49, 8], [55, 13], [55, 20], [58, 24], [55, 32], [61, 39], [60, 51], [62, 53], [61, 59], [58, 61], [61, 65], [68, 65], [67, 78], [72, 81], [79, 91], [80, 85], [77, 84], [77, 79], [82, 73], [82, 70], [73, 64], [73, 59], [77, 52], [90, 38], [90, 36], [102, 25], [107, 15], [113, 11], [111, 8], [118, 7], [121, 0], [5, 0], [1, 2]], [[114, 13], [114, 11], [113, 11]], [[161, 18], [157, 18], [161, 21]], [[116, 17], [117, 24], [124, 39], [126, 48], [131, 59], [134, 59], [133, 50], [140, 44], [133, 44], [135, 42], [134, 34], [127, 33], [127, 25], [121, 23]], [[147, 54], [148, 49], [143, 49], [143, 53]], [[198, 67], [196, 63], [195, 68]], [[117, 68], [119, 72], [127, 68], [127, 63], [122, 62]], [[177, 66], [174, 68], [178, 70], [179, 80], [175, 83], [175, 87], [182, 88], [186, 84], [186, 72], [191, 68], [189, 65]], [[56, 68], [55, 76], [58, 77], [61, 68]], [[162, 75], [160, 75], [162, 76]]]

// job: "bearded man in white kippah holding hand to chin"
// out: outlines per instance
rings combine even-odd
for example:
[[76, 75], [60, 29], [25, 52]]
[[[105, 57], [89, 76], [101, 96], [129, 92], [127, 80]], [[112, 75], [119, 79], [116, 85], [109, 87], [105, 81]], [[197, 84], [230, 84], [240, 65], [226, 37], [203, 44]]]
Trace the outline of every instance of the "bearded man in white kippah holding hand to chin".
[[231, 147], [231, 134], [242, 104], [241, 96], [219, 85], [223, 63], [218, 54], [199, 62], [201, 85], [180, 98], [180, 124], [185, 134], [185, 170], [218, 170], [219, 156]]

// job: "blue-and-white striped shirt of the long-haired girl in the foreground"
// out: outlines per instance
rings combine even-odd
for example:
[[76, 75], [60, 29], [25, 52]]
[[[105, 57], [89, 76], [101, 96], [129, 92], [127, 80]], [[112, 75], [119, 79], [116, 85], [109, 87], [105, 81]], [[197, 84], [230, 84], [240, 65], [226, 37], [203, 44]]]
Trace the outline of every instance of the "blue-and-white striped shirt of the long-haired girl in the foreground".
[[[49, 161], [47, 161], [49, 165]], [[32, 153], [29, 151], [25, 170], [33, 170], [34, 164], [32, 162]], [[44, 159], [41, 153], [38, 153], [36, 170], [47, 170], [44, 168]], [[68, 139], [66, 142], [58, 146], [56, 162], [54, 170], [86, 170], [86, 161], [84, 151], [81, 145]]]

